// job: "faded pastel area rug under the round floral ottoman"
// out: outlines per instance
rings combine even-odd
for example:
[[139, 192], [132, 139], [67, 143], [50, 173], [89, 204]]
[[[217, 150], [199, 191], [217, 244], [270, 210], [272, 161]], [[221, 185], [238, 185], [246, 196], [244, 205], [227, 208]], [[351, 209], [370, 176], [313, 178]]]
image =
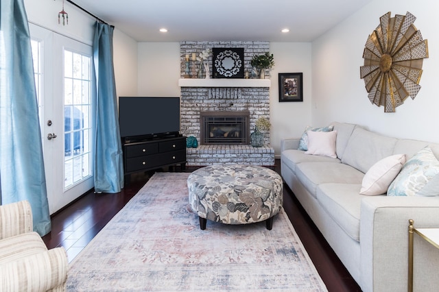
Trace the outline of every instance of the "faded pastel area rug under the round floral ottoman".
[[200, 230], [188, 176], [155, 173], [69, 265], [68, 291], [327, 291], [284, 210], [272, 230]]

